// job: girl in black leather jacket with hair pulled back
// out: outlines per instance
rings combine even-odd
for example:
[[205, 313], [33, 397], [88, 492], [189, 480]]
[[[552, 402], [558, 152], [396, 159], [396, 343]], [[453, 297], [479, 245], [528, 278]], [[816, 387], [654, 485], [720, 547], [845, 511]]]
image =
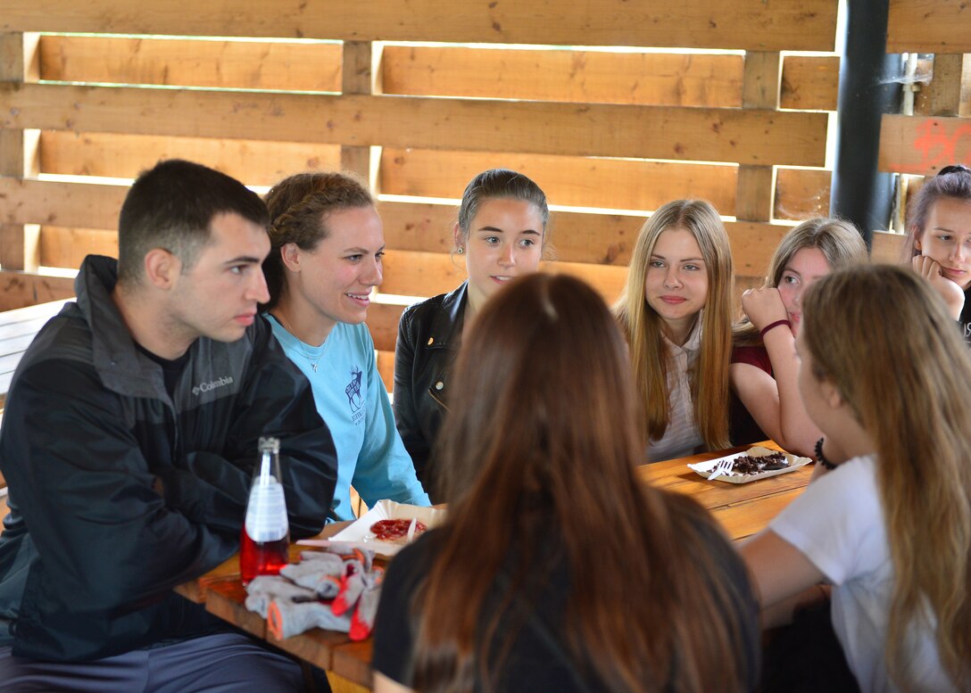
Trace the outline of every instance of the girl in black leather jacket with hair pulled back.
[[452, 361], [472, 315], [504, 283], [536, 272], [547, 242], [550, 210], [539, 186], [522, 174], [490, 169], [465, 188], [452, 229], [454, 252], [468, 280], [401, 315], [394, 350], [394, 417], [419, 479], [444, 500], [431, 462], [452, 389]]

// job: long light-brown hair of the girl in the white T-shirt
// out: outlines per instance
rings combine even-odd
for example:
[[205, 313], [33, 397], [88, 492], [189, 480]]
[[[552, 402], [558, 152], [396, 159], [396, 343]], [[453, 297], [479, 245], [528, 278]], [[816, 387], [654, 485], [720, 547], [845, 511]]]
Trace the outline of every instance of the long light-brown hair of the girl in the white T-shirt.
[[803, 334], [813, 375], [836, 385], [877, 447], [894, 571], [890, 673], [906, 686], [905, 635], [929, 607], [941, 663], [969, 690], [971, 354], [939, 304], [905, 268], [854, 267], [809, 288]]

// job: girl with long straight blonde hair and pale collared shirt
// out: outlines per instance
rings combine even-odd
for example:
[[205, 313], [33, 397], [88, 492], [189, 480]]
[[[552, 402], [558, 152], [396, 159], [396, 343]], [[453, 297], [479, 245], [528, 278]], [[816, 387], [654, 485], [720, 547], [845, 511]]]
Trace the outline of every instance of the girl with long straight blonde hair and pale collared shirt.
[[649, 461], [728, 446], [732, 281], [728, 236], [709, 203], [669, 202], [641, 228], [615, 314]]

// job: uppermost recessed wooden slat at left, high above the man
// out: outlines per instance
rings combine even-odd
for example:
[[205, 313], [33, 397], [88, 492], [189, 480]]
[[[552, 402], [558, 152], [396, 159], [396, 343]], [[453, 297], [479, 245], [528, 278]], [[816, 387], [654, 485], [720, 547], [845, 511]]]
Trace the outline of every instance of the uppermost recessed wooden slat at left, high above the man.
[[43, 36], [42, 80], [340, 91], [339, 44]]

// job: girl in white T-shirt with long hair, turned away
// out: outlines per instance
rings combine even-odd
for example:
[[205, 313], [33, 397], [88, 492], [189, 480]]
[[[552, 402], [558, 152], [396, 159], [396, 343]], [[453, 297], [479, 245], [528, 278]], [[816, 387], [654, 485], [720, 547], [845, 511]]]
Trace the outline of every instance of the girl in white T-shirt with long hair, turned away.
[[971, 354], [889, 265], [820, 279], [796, 346], [806, 411], [848, 459], [742, 547], [764, 625], [826, 580], [861, 690], [971, 690]]

